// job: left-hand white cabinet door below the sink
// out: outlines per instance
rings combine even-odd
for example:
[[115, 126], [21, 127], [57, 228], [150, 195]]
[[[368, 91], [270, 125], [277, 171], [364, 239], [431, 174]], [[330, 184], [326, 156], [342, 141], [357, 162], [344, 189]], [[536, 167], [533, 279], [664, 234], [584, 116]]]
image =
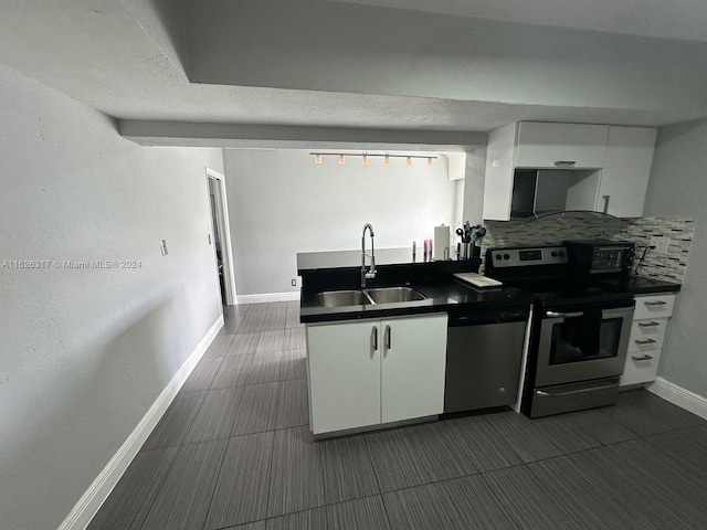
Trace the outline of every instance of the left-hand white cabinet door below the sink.
[[380, 343], [377, 321], [307, 327], [314, 434], [380, 423]]

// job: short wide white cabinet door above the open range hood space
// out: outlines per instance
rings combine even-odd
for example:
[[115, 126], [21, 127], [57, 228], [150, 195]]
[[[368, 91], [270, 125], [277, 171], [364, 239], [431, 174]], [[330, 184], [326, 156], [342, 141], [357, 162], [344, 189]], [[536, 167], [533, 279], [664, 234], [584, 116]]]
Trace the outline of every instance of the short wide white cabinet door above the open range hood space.
[[521, 121], [517, 168], [602, 168], [606, 125]]

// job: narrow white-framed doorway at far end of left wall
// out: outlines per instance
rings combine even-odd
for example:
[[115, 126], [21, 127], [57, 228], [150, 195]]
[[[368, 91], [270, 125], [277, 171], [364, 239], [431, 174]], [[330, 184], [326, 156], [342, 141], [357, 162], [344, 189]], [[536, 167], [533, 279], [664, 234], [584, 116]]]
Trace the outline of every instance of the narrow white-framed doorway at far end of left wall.
[[236, 304], [238, 298], [224, 176], [207, 168], [207, 190], [209, 193], [209, 211], [211, 212], [211, 234], [209, 234], [209, 239], [215, 255], [221, 303], [224, 306], [233, 306]]

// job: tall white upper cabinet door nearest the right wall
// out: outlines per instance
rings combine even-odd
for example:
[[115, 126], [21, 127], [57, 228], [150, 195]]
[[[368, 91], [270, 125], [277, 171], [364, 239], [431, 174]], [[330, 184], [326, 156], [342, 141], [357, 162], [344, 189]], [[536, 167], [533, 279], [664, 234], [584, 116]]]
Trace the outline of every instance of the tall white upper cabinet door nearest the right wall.
[[597, 210], [618, 218], [643, 215], [657, 130], [611, 127]]

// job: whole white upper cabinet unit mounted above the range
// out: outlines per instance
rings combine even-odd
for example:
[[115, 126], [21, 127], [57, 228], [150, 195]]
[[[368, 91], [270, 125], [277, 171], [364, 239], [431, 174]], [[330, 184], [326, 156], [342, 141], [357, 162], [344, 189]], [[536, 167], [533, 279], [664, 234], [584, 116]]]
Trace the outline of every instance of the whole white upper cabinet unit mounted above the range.
[[[641, 216], [656, 132], [647, 127], [538, 121], [493, 130], [486, 150], [483, 216], [508, 221], [511, 211], [518, 216], [547, 213], [548, 198], [557, 202], [560, 194], [564, 203], [563, 208], [557, 204], [558, 211]], [[523, 177], [523, 186], [514, 193], [516, 176]]]

